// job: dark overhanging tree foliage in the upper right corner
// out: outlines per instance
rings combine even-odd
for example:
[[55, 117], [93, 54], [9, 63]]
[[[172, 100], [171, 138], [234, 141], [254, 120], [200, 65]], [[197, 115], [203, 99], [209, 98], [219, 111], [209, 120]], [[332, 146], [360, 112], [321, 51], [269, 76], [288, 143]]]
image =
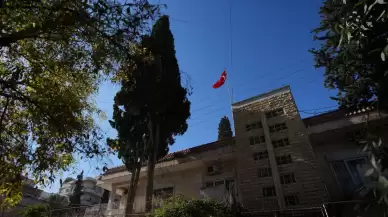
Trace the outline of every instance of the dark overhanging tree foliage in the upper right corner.
[[383, 0], [326, 0], [311, 52], [342, 107], [388, 106], [388, 10]]

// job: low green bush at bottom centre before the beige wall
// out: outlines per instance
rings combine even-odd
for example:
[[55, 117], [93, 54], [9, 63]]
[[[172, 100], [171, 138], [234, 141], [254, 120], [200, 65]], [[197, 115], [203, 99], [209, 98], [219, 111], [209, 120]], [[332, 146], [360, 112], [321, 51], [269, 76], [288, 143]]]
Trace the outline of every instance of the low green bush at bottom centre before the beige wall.
[[155, 209], [150, 217], [243, 217], [241, 209], [232, 209], [228, 203], [214, 200], [167, 199], [163, 207]]

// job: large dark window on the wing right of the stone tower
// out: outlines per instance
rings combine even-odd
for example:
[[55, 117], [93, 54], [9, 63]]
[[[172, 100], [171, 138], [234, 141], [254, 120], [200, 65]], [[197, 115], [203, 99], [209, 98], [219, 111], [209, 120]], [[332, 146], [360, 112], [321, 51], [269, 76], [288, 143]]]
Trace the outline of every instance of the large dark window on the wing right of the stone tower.
[[364, 185], [361, 167], [365, 162], [366, 159], [362, 157], [331, 163], [338, 183], [346, 196], [353, 196]]

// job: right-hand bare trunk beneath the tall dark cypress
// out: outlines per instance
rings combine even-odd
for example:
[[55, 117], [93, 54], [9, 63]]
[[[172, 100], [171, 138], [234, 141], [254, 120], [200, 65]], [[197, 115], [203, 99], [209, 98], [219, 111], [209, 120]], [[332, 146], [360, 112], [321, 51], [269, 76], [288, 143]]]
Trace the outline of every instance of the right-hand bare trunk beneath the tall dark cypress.
[[159, 124], [156, 124], [156, 133], [152, 137], [153, 139], [152, 143], [150, 144], [151, 147], [150, 153], [148, 155], [147, 165], [146, 212], [151, 212], [152, 210], [152, 196], [154, 192], [154, 172], [159, 143]]

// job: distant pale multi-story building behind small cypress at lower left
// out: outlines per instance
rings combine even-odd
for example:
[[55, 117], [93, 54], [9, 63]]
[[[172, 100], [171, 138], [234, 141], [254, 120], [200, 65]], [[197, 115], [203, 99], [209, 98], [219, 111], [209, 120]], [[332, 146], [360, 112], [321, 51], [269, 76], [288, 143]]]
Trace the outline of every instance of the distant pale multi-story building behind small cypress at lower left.
[[[62, 186], [59, 189], [59, 195], [65, 196], [70, 199], [75, 188], [75, 182], [73, 178], [67, 178], [62, 183]], [[104, 193], [104, 189], [97, 186], [97, 180], [91, 177], [86, 177], [83, 179], [83, 188], [81, 195], [81, 204], [82, 205], [94, 205], [100, 203], [101, 198]]]

